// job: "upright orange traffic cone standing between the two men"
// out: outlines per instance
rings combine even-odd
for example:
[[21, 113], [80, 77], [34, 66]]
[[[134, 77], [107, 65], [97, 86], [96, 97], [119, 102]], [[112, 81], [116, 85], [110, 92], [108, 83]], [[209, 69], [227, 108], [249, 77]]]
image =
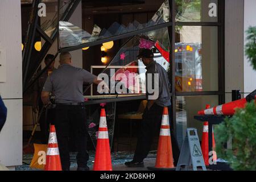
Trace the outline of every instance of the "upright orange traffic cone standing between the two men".
[[101, 109], [100, 127], [98, 128], [98, 138], [93, 171], [112, 171], [109, 134], [108, 126], [106, 123], [105, 109]]

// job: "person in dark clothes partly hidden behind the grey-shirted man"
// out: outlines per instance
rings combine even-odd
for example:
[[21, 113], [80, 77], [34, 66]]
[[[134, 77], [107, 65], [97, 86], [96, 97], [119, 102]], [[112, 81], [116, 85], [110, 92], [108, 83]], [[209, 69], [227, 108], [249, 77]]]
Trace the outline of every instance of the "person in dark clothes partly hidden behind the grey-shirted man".
[[[44, 64], [48, 65], [50, 61], [54, 59], [54, 55], [48, 54], [46, 55], [44, 59]], [[48, 137], [49, 137], [49, 123], [53, 123], [54, 120], [54, 111], [53, 109], [46, 109], [43, 105], [43, 102], [41, 100], [41, 92], [43, 90], [44, 83], [46, 82], [46, 79], [53, 71], [55, 71], [55, 60], [52, 61], [51, 65], [49, 65], [48, 69], [38, 78], [38, 81], [34, 84], [34, 103], [32, 106], [32, 109], [35, 113], [38, 113], [42, 110], [42, 113], [39, 118], [39, 124], [40, 124], [40, 135], [41, 135], [41, 142], [43, 144], [47, 144]], [[46, 118], [47, 117], [47, 118]]]

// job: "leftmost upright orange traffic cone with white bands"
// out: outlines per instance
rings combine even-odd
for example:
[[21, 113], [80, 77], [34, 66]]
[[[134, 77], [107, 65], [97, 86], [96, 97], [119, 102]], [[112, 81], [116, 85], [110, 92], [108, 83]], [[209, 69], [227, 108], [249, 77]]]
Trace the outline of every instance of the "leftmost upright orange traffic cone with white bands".
[[57, 143], [55, 126], [50, 126], [47, 154], [46, 154], [46, 166], [44, 171], [62, 171], [60, 162], [60, 152]]

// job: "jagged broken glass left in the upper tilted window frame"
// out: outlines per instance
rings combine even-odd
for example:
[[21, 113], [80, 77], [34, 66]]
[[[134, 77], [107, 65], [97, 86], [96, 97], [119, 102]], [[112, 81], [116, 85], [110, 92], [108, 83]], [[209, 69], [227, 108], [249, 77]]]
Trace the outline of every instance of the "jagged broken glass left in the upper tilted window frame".
[[[143, 6], [148, 6], [151, 1], [145, 1]], [[96, 40], [102, 40], [111, 38], [113, 36], [122, 35], [128, 32], [142, 30], [143, 28], [153, 27], [158, 24], [169, 22], [170, 19], [170, 8], [168, 0], [160, 1], [161, 4], [156, 13], [146, 23], [141, 23], [139, 20], [134, 19], [132, 22], [124, 25], [118, 22], [113, 22], [109, 27], [100, 27], [94, 24], [93, 30], [87, 32], [82, 28], [77, 27], [75, 24], [69, 22], [59, 22], [59, 36], [60, 36], [60, 47], [72, 47], [78, 46], [83, 43], [94, 42]], [[151, 2], [152, 4], [152, 2]], [[159, 4], [159, 2], [157, 3]], [[151, 5], [152, 6], [152, 5]], [[123, 6], [126, 8], [129, 6]], [[110, 11], [110, 10], [109, 10]]]

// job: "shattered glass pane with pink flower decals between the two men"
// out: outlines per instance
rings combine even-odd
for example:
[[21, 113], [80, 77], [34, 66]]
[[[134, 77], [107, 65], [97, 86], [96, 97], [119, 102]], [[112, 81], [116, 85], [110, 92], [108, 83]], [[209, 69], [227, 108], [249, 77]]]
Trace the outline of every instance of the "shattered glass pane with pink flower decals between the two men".
[[[108, 78], [109, 94], [146, 93], [146, 69], [142, 61], [137, 60], [139, 49], [152, 49], [154, 60], [169, 70], [170, 42], [168, 28], [161, 28], [136, 35], [127, 40], [119, 49], [110, 64], [101, 72]], [[92, 70], [93, 71], [93, 70]], [[91, 95], [98, 95], [97, 86], [93, 86]]]

